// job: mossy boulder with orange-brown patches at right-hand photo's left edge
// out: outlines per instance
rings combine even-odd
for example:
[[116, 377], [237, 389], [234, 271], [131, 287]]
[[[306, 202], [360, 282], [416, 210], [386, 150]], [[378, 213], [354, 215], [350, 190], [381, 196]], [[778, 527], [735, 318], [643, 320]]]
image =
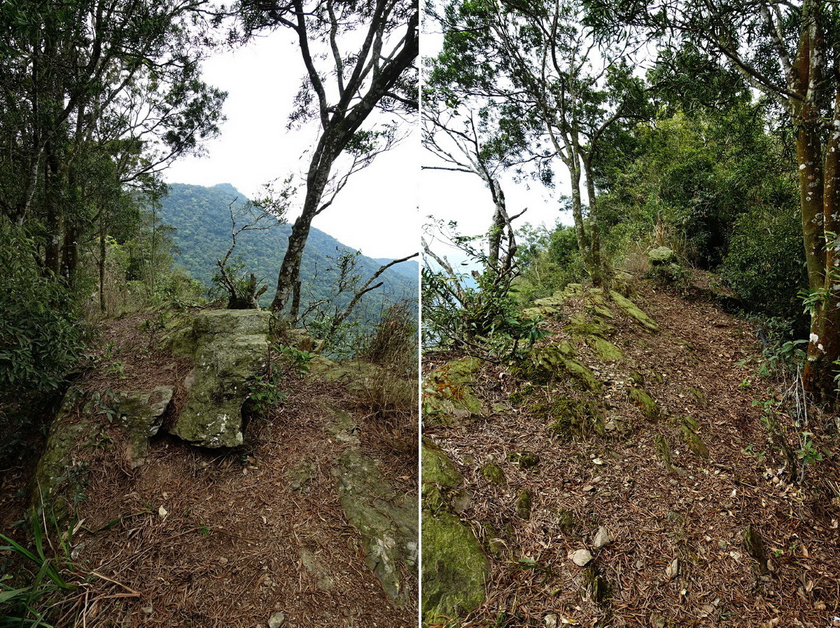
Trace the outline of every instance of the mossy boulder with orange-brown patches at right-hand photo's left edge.
[[434, 369], [423, 380], [424, 421], [449, 425], [469, 416], [486, 416], [487, 409], [472, 390], [479, 358], [463, 358]]

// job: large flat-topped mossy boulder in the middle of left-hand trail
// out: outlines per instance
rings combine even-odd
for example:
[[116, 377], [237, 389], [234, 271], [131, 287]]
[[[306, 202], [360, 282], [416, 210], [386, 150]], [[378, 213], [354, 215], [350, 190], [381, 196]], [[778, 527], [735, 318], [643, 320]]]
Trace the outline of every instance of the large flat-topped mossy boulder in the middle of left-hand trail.
[[242, 444], [242, 405], [249, 383], [265, 373], [270, 312], [213, 310], [192, 322], [195, 368], [189, 398], [170, 433], [203, 447]]

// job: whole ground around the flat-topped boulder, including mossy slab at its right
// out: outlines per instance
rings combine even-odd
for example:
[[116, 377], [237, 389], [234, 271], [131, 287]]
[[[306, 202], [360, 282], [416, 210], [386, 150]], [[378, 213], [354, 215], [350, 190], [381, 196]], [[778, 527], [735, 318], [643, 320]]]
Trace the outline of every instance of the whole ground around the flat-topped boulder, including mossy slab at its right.
[[[76, 383], [85, 399], [157, 385], [175, 394], [139, 464], [108, 412], [68, 450], [71, 516], [52, 536], [73, 532], [78, 587], [53, 625], [417, 624], [416, 414], [375, 406], [365, 367], [315, 358], [302, 373], [278, 353], [286, 399], [249, 416], [242, 447], [195, 447], [165, 434], [190, 359], [160, 348], [142, 315], [103, 334], [97, 369]], [[34, 458], [3, 469], [0, 523], [20, 542], [33, 474]]]

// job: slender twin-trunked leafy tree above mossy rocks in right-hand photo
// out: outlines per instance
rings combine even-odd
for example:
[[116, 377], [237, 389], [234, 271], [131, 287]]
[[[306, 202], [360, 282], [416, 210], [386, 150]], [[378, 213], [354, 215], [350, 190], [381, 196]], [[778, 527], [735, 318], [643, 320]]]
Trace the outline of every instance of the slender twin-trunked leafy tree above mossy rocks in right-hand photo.
[[[622, 60], [628, 46], [600, 48], [582, 27], [575, 0], [457, 0], [440, 18], [444, 50], [436, 65], [447, 67], [438, 76], [449, 79], [450, 90], [460, 97], [503, 102], [507, 125], [529, 127], [522, 134], [528, 144], [536, 144], [538, 136], [548, 139], [570, 175], [580, 253], [592, 281], [600, 284], [595, 167], [606, 130], [640, 101], [640, 81]], [[540, 174], [544, 181], [554, 179], [544, 168]], [[583, 185], [589, 196], [586, 217]]]

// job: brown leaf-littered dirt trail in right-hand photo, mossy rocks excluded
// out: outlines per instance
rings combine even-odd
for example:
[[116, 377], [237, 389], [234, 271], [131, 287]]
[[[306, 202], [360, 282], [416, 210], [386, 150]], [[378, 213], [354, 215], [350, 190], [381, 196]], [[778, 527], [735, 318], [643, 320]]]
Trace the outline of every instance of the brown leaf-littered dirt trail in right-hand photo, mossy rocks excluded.
[[[762, 407], [753, 406], [772, 385], [756, 374], [753, 333], [711, 303], [651, 285], [639, 284], [632, 298], [660, 329], [644, 330], [613, 305], [606, 338], [623, 353], [616, 362], [564, 331], [591, 306], [585, 298], [549, 319], [545, 342], [570, 340], [604, 382], [601, 393], [581, 391], [568, 376], [528, 387], [522, 374], [485, 364], [475, 388], [493, 413], [426, 428], [464, 474], [471, 502], [461, 516], [491, 557], [486, 603], [463, 625], [832, 625], [840, 615], [836, 456], [808, 468], [801, 489], [785, 471], [765, 477], [785, 456], [769, 446]], [[628, 397], [632, 381], [659, 406], [657, 420]], [[564, 399], [595, 399], [606, 431], [551, 433], [547, 413]], [[688, 447], [684, 426], [708, 458], [696, 442]], [[798, 447], [793, 437], [790, 444]], [[537, 453], [538, 465], [517, 464], [522, 452]], [[489, 463], [501, 468], [503, 484], [481, 473]], [[529, 516], [522, 491], [531, 496]], [[595, 548], [599, 526], [614, 540]], [[769, 564], [749, 555], [750, 526]], [[587, 568], [570, 560], [583, 548], [594, 556]]]

